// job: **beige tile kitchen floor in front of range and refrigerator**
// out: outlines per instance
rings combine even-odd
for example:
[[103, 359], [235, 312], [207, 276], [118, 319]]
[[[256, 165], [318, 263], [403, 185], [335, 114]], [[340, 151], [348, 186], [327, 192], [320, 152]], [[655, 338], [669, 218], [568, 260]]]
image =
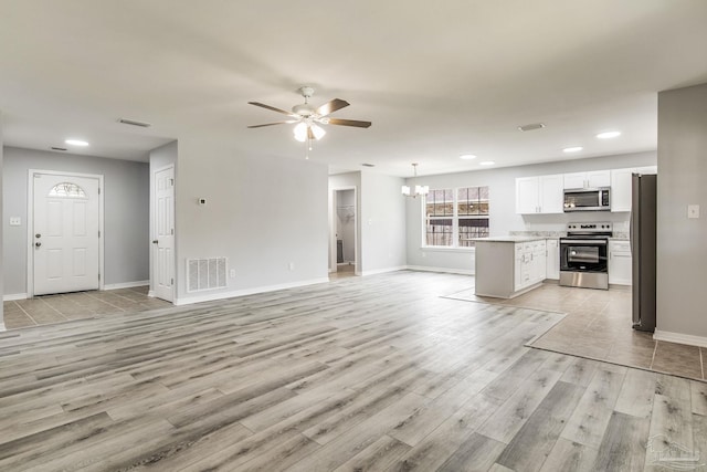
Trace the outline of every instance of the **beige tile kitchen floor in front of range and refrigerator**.
[[630, 287], [604, 291], [550, 282], [511, 300], [476, 296], [473, 287], [451, 297], [566, 313], [531, 344], [536, 348], [707, 380], [707, 348], [654, 340], [651, 333], [631, 327]]

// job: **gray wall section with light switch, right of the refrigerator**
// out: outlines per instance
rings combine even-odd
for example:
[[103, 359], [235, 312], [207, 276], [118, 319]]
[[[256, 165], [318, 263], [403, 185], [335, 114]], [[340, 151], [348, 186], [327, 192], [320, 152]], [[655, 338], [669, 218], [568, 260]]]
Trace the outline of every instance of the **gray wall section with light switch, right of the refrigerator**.
[[658, 94], [658, 169], [657, 329], [707, 338], [707, 84]]

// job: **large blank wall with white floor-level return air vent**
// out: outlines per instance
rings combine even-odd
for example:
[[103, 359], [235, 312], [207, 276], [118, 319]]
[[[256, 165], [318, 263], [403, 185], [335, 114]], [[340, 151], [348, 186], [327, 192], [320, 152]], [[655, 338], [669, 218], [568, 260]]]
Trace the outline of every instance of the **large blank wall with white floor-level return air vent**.
[[[178, 167], [176, 303], [327, 280], [326, 166], [180, 138]], [[235, 279], [187, 292], [186, 260], [214, 256], [228, 258]]]

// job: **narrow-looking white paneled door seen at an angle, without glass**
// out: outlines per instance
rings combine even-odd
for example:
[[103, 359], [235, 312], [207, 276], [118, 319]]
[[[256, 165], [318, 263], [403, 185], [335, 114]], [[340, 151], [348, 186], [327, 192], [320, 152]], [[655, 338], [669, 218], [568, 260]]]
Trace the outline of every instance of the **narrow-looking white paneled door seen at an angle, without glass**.
[[155, 172], [155, 296], [171, 302], [175, 285], [175, 168]]

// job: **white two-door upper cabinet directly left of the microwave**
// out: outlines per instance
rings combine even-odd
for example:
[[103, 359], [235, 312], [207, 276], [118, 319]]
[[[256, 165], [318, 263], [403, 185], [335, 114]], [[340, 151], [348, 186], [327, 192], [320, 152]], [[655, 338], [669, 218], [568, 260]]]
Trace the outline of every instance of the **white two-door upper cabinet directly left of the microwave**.
[[562, 175], [516, 179], [516, 213], [561, 213]]

